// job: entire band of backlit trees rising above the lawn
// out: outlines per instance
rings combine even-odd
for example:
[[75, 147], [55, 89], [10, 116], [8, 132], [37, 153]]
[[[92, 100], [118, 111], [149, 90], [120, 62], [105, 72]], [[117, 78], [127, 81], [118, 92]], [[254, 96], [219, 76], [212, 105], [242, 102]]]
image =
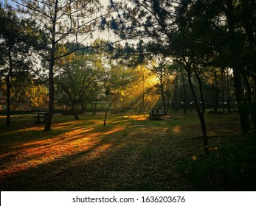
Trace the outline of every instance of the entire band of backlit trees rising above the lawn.
[[[206, 153], [208, 104], [217, 113], [222, 102], [222, 111], [230, 113], [231, 102], [237, 102], [242, 132], [255, 129], [255, 1], [130, 0], [109, 1], [105, 8], [92, 0], [15, 3], [15, 8], [1, 5], [1, 82], [7, 125], [10, 83], [22, 73], [47, 80], [45, 130], [51, 129], [59, 96], [56, 89], [64, 91], [75, 114], [77, 104], [84, 107], [89, 99], [125, 99], [132, 93], [127, 88], [134, 89], [131, 82], [139, 78], [142, 92], [134, 101], [142, 112], [149, 88], [159, 94], [165, 113], [170, 107], [178, 110], [181, 104], [184, 112], [195, 108]], [[85, 44], [94, 32], [104, 30], [118, 35], [118, 43]], [[147, 68], [147, 78], [154, 77], [148, 79], [154, 87], [144, 88], [146, 74], [139, 67]], [[135, 68], [135, 74], [129, 68]], [[118, 78], [112, 78], [115, 71]]]

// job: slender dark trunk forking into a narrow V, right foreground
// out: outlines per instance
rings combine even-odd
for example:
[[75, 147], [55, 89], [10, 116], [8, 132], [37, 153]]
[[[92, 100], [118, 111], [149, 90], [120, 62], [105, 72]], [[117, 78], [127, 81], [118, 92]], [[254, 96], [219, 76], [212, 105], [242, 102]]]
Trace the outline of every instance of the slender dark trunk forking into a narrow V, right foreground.
[[208, 143], [208, 138], [207, 138], [207, 127], [205, 124], [205, 120], [204, 120], [204, 112], [205, 112], [205, 106], [204, 106], [204, 96], [202, 93], [202, 85], [201, 85], [201, 81], [200, 79], [198, 79], [198, 83], [199, 83], [199, 87], [200, 87], [200, 94], [201, 94], [201, 101], [202, 101], [202, 109], [200, 109], [199, 105], [198, 105], [198, 98], [196, 96], [196, 92], [191, 80], [191, 71], [190, 68], [187, 68], [187, 77], [188, 77], [188, 83], [190, 85], [190, 90], [194, 99], [194, 104], [196, 107], [196, 112], [198, 114], [198, 118], [200, 120], [200, 124], [201, 124], [201, 130], [203, 133], [203, 142], [204, 142], [204, 154], [210, 154], [209, 152], [209, 143]]

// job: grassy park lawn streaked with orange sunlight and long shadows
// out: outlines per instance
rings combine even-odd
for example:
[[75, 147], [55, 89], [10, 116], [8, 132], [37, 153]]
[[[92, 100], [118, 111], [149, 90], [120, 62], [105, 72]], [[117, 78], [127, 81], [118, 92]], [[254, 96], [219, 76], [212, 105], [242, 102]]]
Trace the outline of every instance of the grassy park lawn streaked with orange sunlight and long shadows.
[[[206, 115], [212, 160], [237, 139], [237, 119]], [[5, 127], [0, 116], [1, 191], [208, 190], [190, 177], [190, 169], [197, 172], [193, 164], [207, 164], [196, 113], [171, 113], [159, 121], [110, 114], [106, 127], [103, 114], [79, 121], [54, 116], [51, 132], [33, 121], [32, 115], [12, 116]]]

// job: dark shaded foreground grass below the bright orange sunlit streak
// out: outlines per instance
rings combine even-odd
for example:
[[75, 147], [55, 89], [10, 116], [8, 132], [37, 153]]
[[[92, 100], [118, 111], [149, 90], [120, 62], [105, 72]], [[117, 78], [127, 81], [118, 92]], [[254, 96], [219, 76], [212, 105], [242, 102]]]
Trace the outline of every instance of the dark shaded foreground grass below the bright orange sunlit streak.
[[175, 171], [172, 145], [166, 144], [170, 137], [164, 133], [150, 135], [151, 129], [155, 128], [106, 131], [89, 149], [3, 178], [1, 190], [177, 190], [181, 182]]

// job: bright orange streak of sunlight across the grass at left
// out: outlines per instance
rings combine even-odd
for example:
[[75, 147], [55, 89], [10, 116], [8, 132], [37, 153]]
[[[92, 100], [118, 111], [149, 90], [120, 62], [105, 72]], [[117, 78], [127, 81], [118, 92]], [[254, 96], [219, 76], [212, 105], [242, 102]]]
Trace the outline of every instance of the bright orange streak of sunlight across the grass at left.
[[92, 132], [94, 128], [80, 127], [54, 138], [14, 146], [13, 152], [0, 155], [0, 158], [11, 159], [1, 165], [0, 178], [81, 152], [88, 152], [88, 159], [94, 159], [112, 146], [111, 143], [102, 143], [102, 138], [122, 129], [125, 127], [114, 127], [106, 132]]

